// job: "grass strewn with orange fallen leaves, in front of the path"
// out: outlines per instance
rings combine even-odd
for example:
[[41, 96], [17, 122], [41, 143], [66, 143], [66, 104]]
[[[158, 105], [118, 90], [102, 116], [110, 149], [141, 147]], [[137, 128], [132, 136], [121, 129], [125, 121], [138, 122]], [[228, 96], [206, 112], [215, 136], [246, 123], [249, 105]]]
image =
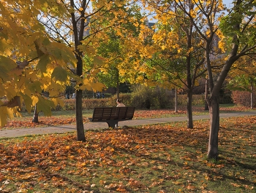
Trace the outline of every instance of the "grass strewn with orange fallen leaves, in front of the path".
[[219, 160], [208, 121], [0, 141], [0, 192], [255, 192], [256, 117], [221, 119]]

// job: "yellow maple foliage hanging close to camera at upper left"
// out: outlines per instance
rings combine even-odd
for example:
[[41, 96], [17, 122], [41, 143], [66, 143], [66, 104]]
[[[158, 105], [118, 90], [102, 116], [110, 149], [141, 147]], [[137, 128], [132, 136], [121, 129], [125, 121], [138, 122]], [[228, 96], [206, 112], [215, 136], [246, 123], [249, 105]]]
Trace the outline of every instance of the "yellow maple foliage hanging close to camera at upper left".
[[[61, 14], [61, 7], [52, 1], [1, 1], [0, 66], [1, 66], [1, 126], [7, 117], [19, 115], [15, 106], [26, 104], [27, 111], [38, 103], [39, 111], [50, 115], [50, 108], [59, 101], [57, 96], [69, 82], [69, 66], [75, 66], [72, 50], [53, 42], [37, 20], [45, 9]], [[58, 11], [57, 11], [58, 9]], [[52, 98], [46, 98], [47, 90]]]

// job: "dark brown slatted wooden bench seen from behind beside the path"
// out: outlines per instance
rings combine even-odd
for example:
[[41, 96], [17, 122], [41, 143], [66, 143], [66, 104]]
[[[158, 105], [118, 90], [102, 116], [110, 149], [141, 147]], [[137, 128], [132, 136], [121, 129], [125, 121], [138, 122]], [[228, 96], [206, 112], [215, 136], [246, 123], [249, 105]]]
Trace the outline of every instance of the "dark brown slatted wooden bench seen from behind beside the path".
[[118, 127], [118, 122], [131, 120], [135, 107], [97, 107], [94, 108], [91, 122], [107, 122], [108, 127]]

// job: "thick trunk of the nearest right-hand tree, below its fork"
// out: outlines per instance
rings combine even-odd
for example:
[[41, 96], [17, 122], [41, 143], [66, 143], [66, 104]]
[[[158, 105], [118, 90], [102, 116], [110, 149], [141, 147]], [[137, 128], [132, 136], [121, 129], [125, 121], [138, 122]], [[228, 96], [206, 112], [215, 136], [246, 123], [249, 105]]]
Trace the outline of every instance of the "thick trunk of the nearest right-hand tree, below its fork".
[[218, 135], [219, 135], [219, 97], [212, 97], [209, 102], [210, 108], [210, 135], [208, 143], [208, 159], [218, 157]]

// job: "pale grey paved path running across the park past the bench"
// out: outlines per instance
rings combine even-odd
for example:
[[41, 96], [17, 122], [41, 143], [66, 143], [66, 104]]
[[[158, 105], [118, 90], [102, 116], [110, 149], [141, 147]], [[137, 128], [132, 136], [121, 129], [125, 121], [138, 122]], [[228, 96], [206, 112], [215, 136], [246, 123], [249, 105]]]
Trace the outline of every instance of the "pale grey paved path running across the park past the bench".
[[[248, 112], [237, 112], [237, 113], [223, 113], [220, 114], [220, 118], [225, 117], [242, 117], [247, 115], [256, 115], [256, 111]], [[200, 119], [209, 119], [209, 115], [198, 115], [193, 116], [193, 120]], [[122, 127], [127, 126], [138, 126], [138, 125], [152, 125], [152, 124], [162, 124], [167, 122], [182, 122], [186, 121], [187, 117], [167, 117], [159, 119], [132, 119], [129, 121], [118, 122], [118, 126]], [[107, 128], [108, 124], [105, 122], [89, 122], [84, 125], [85, 130], [94, 130]], [[75, 125], [59, 125], [59, 126], [50, 126], [50, 127], [34, 127], [34, 128], [18, 128], [14, 130], [0, 130], [0, 139], [1, 138], [14, 138], [25, 135], [39, 135], [39, 134], [48, 134], [48, 133], [67, 133], [75, 132]]]

